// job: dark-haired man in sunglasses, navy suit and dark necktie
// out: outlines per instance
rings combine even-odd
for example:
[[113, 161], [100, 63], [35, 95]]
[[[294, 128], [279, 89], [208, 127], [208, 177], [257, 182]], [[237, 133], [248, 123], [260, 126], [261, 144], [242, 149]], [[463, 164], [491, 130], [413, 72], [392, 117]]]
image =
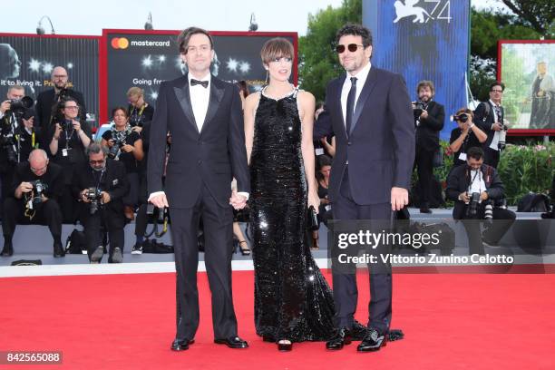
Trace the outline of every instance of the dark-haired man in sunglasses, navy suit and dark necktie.
[[[414, 120], [403, 78], [371, 67], [372, 35], [359, 24], [336, 34], [336, 52], [346, 74], [327, 85], [326, 111], [315, 139], [336, 135], [329, 199], [334, 219], [381, 219], [408, 204], [414, 163]], [[358, 298], [355, 274], [333, 274], [337, 334], [326, 343], [341, 349], [350, 342]], [[385, 344], [391, 322], [391, 273], [370, 278], [370, 318], [358, 346], [375, 351]]]

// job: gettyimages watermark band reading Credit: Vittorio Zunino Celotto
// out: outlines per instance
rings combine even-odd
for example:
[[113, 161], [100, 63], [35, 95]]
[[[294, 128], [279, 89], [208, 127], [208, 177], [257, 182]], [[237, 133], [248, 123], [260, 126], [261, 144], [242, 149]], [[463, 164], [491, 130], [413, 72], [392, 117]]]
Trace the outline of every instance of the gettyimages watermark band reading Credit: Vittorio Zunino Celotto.
[[[491, 239], [498, 229], [491, 223], [484, 226], [481, 221], [475, 220], [471, 225], [454, 220], [428, 223], [409, 220], [335, 220], [329, 223], [328, 229], [328, 257], [331, 267], [339, 273], [353, 273], [357, 265], [366, 265], [373, 273], [390, 272], [392, 265], [511, 267], [515, 264], [517, 254], [514, 248], [490, 248], [483, 244], [482, 236]], [[467, 230], [477, 233], [478, 241], [475, 235], [468, 238]], [[455, 237], [465, 244], [455, 248]], [[527, 252], [525, 248], [519, 248], [518, 253]]]

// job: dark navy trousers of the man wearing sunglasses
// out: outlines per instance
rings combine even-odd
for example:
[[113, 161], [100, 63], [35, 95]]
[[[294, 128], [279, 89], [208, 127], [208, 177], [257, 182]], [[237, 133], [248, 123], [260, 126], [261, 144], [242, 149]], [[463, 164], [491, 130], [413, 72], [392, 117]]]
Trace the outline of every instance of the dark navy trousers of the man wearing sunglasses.
[[[375, 179], [379, 180], [379, 179]], [[372, 181], [372, 179], [369, 179]], [[371, 183], [369, 183], [371, 186]], [[345, 170], [337, 199], [333, 202], [334, 219], [391, 219], [391, 203], [359, 205], [351, 195], [348, 169]], [[334, 301], [336, 304], [335, 325], [352, 327], [358, 300], [356, 274], [332, 274]], [[368, 306], [368, 326], [382, 333], [389, 331], [392, 312], [391, 273], [374, 273], [370, 277], [370, 303]]]

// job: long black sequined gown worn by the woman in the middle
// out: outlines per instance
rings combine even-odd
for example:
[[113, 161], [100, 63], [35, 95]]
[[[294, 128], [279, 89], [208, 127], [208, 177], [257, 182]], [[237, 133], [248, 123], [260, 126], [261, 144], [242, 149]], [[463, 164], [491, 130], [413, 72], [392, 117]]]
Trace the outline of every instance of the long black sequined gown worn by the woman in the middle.
[[307, 180], [297, 90], [263, 93], [250, 160], [250, 228], [258, 336], [294, 342], [333, 335], [333, 294], [306, 241]]

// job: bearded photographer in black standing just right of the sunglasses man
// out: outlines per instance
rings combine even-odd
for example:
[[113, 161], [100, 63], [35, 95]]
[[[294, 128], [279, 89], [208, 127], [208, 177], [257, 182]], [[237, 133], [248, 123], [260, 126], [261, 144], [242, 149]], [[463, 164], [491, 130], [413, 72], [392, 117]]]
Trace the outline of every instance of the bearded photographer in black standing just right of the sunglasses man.
[[433, 178], [433, 153], [440, 147], [439, 132], [443, 130], [445, 109], [433, 101], [435, 89], [431, 81], [421, 81], [416, 86], [418, 102], [413, 103], [414, 126], [416, 130], [416, 158], [414, 165], [418, 171], [420, 212], [432, 213], [430, 198]]

